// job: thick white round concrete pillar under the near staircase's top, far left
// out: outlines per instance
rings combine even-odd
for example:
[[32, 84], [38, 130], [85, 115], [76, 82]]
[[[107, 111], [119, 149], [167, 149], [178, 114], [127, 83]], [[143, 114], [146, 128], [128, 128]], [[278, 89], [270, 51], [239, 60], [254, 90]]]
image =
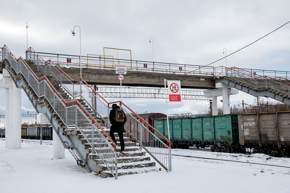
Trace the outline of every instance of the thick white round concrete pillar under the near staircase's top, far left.
[[[13, 124], [9, 133], [9, 148], [21, 148], [21, 89], [18, 89], [15, 84], [12, 86], [13, 97], [10, 96], [10, 104], [12, 104], [13, 115], [11, 116], [10, 123]], [[10, 94], [10, 93], [9, 93]], [[11, 115], [11, 114], [10, 114]]]

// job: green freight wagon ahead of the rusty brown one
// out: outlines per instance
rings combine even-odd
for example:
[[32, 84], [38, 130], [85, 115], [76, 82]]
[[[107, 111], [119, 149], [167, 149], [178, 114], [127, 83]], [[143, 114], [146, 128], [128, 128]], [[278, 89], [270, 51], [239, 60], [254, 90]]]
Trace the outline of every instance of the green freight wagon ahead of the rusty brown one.
[[[154, 119], [154, 128], [168, 138], [166, 118]], [[174, 148], [212, 147], [212, 151], [233, 152], [232, 145], [239, 145], [237, 115], [170, 118], [169, 131]]]

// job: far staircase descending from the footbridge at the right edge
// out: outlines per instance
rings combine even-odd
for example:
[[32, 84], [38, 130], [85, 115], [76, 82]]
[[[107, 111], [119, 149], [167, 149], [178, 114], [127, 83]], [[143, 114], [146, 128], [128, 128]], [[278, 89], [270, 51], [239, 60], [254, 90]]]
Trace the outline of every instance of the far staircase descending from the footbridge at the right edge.
[[226, 76], [215, 78], [215, 83], [224, 83], [255, 97], [266, 96], [290, 105], [290, 81], [286, 78], [258, 76], [236, 67], [226, 68]]

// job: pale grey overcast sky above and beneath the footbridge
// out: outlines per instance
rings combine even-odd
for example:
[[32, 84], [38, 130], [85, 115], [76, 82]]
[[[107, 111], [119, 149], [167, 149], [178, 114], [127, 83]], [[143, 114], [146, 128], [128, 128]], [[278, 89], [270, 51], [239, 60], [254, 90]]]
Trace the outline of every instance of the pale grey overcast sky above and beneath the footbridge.
[[[28, 47], [79, 55], [79, 28], [76, 36], [71, 34], [79, 25], [83, 56], [113, 47], [132, 50], [133, 60], [152, 61], [152, 37], [155, 62], [207, 65], [224, 57], [223, 48], [229, 55], [290, 21], [289, 7], [289, 0], [2, 1], [0, 47], [6, 44], [16, 57], [24, 57], [28, 22]], [[289, 42], [290, 23], [229, 56], [227, 67], [290, 71]], [[211, 66], [221, 65], [225, 60]], [[5, 92], [0, 96], [5, 98]], [[251, 104], [254, 98], [241, 93], [231, 102], [242, 99]], [[165, 113], [164, 99], [124, 102], [139, 113]], [[197, 113], [207, 104], [184, 100], [168, 108], [169, 113]], [[25, 94], [22, 105], [33, 108]], [[4, 106], [0, 100], [0, 108]]]

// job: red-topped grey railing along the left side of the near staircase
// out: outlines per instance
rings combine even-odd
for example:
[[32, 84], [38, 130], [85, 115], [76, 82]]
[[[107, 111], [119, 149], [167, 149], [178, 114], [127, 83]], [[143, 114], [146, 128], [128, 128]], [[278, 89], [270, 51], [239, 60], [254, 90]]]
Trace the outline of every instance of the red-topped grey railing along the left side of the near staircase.
[[[79, 129], [84, 135], [84, 138], [91, 145], [92, 153], [96, 153], [100, 157], [108, 170], [117, 179], [116, 144], [104, 131], [102, 126], [97, 123], [94, 117], [88, 113], [78, 100], [64, 100], [46, 76], [38, 78], [23, 58], [19, 57], [15, 59], [13, 56], [12, 52], [4, 45], [2, 49], [2, 58], [8, 60], [16, 74], [22, 74], [23, 78], [28, 82], [39, 98], [44, 97], [50, 103], [55, 113], [57, 113], [66, 126], [75, 126]], [[112, 147], [101, 131], [108, 137], [114, 147]], [[99, 143], [95, 143], [95, 139], [97, 139]]]

